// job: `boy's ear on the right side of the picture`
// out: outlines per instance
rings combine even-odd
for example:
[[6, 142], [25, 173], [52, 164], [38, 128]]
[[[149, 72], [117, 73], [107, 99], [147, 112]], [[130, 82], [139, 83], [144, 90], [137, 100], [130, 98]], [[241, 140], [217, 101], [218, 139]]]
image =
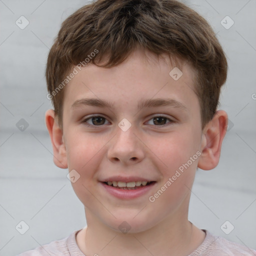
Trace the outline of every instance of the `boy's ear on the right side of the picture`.
[[218, 110], [203, 129], [201, 155], [197, 167], [210, 170], [217, 166], [226, 129], [227, 114], [223, 110]]

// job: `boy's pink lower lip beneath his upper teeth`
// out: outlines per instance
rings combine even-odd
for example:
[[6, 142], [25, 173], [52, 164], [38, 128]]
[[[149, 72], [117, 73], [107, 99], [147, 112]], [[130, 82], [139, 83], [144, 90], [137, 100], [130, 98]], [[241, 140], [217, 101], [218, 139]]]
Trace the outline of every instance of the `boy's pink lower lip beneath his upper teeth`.
[[152, 187], [155, 185], [156, 182], [151, 182], [148, 185], [140, 186], [136, 189], [122, 189], [116, 188], [115, 186], [109, 186], [104, 182], [100, 182], [101, 185], [106, 189], [108, 193], [111, 195], [120, 198], [120, 199], [133, 199], [137, 198], [141, 195], [146, 194]]

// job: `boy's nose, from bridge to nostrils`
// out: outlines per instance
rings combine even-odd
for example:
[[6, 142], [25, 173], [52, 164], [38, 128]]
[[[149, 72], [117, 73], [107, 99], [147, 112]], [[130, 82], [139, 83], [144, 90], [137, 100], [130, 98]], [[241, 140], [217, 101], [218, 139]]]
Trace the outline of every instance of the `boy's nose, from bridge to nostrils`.
[[143, 143], [132, 128], [123, 131], [118, 128], [107, 151], [108, 160], [126, 165], [135, 164], [144, 158]]

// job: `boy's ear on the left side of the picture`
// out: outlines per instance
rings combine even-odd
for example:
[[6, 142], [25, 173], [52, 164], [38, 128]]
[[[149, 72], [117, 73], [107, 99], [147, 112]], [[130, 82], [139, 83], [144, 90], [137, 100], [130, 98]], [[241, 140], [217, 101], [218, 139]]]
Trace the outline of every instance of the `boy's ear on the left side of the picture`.
[[59, 168], [67, 168], [66, 147], [63, 141], [63, 131], [59, 127], [57, 117], [53, 109], [45, 112], [45, 123], [50, 135], [53, 148], [53, 162]]

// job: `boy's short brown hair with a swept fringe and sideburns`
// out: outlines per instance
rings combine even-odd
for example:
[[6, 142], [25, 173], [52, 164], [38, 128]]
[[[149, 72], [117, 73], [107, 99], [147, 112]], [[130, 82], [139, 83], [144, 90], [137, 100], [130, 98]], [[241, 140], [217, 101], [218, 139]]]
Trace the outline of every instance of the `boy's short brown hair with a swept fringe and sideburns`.
[[[176, 0], [97, 0], [63, 21], [49, 51], [45, 72], [48, 95], [54, 95], [50, 98], [61, 127], [63, 80], [70, 69], [84, 63], [95, 49], [97, 54], [89, 64], [116, 66], [137, 47], [157, 57], [167, 53], [191, 64], [204, 127], [216, 111], [227, 61], [207, 21]], [[106, 55], [108, 61], [99, 65]]]

